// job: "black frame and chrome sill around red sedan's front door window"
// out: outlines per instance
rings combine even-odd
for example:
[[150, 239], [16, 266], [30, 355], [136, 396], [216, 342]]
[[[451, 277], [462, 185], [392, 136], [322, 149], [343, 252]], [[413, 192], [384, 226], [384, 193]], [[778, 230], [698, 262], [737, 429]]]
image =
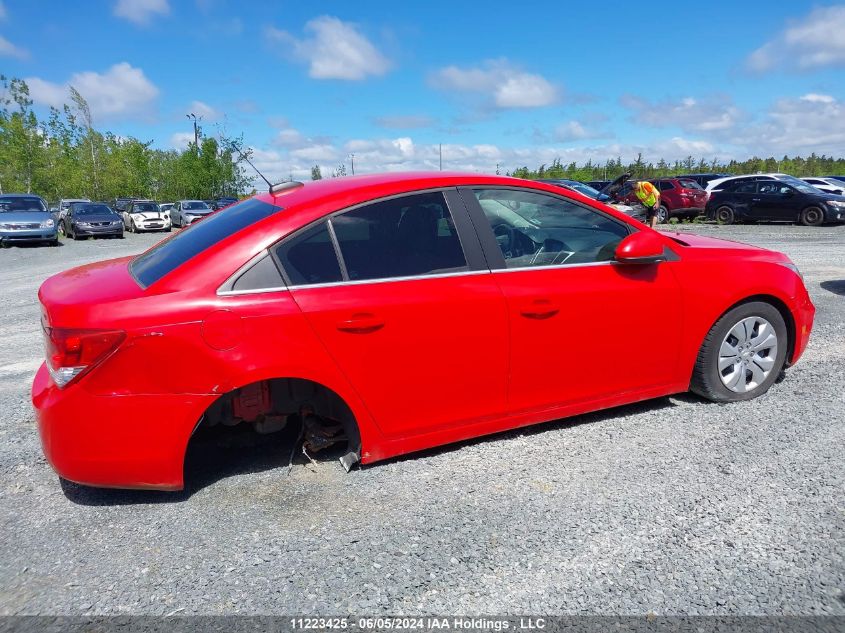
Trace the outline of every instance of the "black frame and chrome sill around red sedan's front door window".
[[[581, 202], [575, 201], [572, 198], [568, 198], [565, 195], [561, 195], [555, 192], [546, 191], [545, 189], [534, 189], [533, 187], [514, 187], [512, 185], [462, 185], [458, 187], [458, 191], [461, 193], [461, 197], [464, 201], [464, 206], [467, 208], [469, 212], [470, 219], [473, 222], [473, 225], [476, 229], [476, 234], [478, 235], [478, 239], [481, 242], [484, 253], [487, 257], [487, 261], [490, 263], [490, 270], [491, 272], [517, 272], [517, 271], [526, 271], [526, 270], [552, 270], [558, 268], [581, 268], [584, 266], [604, 266], [607, 264], [618, 264], [614, 260], [606, 261], [606, 262], [582, 262], [580, 264], [552, 264], [549, 266], [519, 266], [514, 268], [508, 268], [507, 261], [505, 260], [505, 256], [502, 254], [502, 249], [499, 248], [499, 244], [496, 242], [496, 238], [493, 235], [493, 229], [490, 227], [490, 222], [487, 220], [487, 216], [484, 215], [484, 209], [481, 207], [481, 203], [478, 201], [478, 198], [475, 197], [473, 191], [475, 189], [501, 189], [506, 191], [522, 191], [522, 192], [530, 192], [530, 193], [538, 193], [538, 194], [545, 194], [551, 196], [553, 198], [558, 198], [563, 200], [564, 202], [568, 202], [573, 204], [577, 207], [581, 207], [587, 211], [592, 211], [593, 213], [597, 213], [600, 216], [615, 222], [616, 224], [625, 228], [628, 231], [628, 235], [631, 235], [637, 229], [632, 227], [627, 222], [622, 222], [618, 218], [614, 218], [611, 215], [608, 215], [604, 211], [600, 211], [594, 207], [589, 205], [583, 204]], [[480, 227], [480, 228], [479, 228]], [[624, 238], [623, 238], [624, 239]]]

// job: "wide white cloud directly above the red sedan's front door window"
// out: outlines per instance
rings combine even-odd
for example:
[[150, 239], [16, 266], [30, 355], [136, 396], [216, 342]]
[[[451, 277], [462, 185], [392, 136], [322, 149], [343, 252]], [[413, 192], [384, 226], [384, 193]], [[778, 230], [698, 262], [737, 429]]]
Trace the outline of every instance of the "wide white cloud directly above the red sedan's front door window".
[[482, 96], [497, 108], [540, 108], [558, 101], [559, 90], [541, 75], [525, 72], [507, 60], [488, 60], [480, 67], [447, 66], [431, 83], [444, 91]]

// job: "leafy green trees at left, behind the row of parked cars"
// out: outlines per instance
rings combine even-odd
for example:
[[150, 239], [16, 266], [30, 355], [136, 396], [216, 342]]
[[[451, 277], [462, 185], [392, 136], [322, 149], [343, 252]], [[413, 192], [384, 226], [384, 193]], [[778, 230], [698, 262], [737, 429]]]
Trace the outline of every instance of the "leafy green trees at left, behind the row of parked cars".
[[0, 193], [178, 200], [239, 196], [252, 188], [233, 139], [202, 137], [183, 151], [155, 149], [153, 141], [98, 131], [85, 98], [73, 87], [68, 92], [70, 103], [39, 119], [26, 82], [0, 75]]

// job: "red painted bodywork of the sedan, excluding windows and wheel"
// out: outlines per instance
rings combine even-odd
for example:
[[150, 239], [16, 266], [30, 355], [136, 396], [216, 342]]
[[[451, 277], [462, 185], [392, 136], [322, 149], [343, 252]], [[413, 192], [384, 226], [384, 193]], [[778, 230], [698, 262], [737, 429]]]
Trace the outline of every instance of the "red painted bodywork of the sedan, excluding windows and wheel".
[[[467, 211], [476, 204], [467, 192], [479, 187], [569, 201], [629, 236], [611, 261], [507, 269], [498, 249], [489, 250], [494, 231], [478, 226], [477, 209]], [[469, 270], [220, 291], [302, 227], [420, 191], [447, 197], [474, 262]], [[53, 374], [62, 370], [45, 363], [32, 387], [44, 453], [60, 476], [95, 486], [181, 489], [189, 440], [215, 403], [277, 379], [308, 381], [286, 384], [316, 384], [336, 396], [354, 418], [356, 457], [367, 464], [687, 391], [710, 328], [751, 297], [783, 313], [787, 364], [801, 356], [812, 327], [813, 305], [784, 255], [654, 232], [551, 185], [467, 174], [374, 175], [256, 200], [282, 209], [223, 235], [146, 287], [131, 258], [44, 282], [48, 362], [87, 365], [60, 388]], [[241, 204], [198, 227], [212, 227]], [[198, 230], [176, 235], [187, 244]], [[659, 249], [666, 261], [621, 263], [626, 252], [636, 261], [638, 249]]]

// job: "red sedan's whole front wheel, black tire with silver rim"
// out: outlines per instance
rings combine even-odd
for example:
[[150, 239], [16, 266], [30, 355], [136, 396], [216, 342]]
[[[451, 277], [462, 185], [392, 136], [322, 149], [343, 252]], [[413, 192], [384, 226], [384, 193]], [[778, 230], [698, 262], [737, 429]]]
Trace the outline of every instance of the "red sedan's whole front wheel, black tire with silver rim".
[[786, 324], [770, 303], [743, 303], [721, 317], [701, 345], [690, 391], [713, 402], [761, 396], [778, 379], [789, 343]]

